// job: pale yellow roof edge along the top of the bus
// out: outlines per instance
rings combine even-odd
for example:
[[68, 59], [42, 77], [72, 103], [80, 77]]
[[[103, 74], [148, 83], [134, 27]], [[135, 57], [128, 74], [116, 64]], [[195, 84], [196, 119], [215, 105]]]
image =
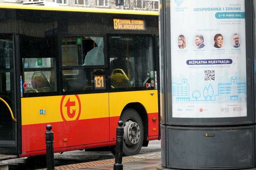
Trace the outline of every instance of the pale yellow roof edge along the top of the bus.
[[24, 9], [24, 10], [52, 10], [52, 11], [72, 11], [72, 12], [97, 12], [97, 13], [115, 13], [115, 14], [136, 14], [136, 15], [158, 15], [158, 12], [155, 12], [155, 11], [113, 10], [113, 9], [98, 9], [98, 8], [44, 6], [44, 5], [0, 4], [0, 8]]

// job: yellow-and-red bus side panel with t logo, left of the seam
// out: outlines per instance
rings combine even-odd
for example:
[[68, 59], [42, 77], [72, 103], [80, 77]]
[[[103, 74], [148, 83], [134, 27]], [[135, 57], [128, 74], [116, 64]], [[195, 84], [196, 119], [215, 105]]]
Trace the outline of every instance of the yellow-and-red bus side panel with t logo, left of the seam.
[[22, 98], [22, 153], [45, 149], [47, 124], [54, 148], [109, 141], [108, 93]]

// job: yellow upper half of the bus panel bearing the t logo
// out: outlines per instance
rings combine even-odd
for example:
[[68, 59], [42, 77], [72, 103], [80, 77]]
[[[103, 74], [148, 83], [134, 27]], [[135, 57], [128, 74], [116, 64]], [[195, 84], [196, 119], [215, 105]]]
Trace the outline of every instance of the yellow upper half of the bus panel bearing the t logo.
[[108, 93], [26, 97], [21, 99], [22, 125], [109, 117], [108, 107]]

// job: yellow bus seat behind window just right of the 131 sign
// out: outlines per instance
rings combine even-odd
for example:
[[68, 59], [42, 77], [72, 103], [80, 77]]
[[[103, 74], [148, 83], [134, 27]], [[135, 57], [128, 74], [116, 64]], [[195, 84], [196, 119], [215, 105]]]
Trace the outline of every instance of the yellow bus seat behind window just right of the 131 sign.
[[111, 73], [111, 86], [114, 88], [132, 87], [131, 82], [124, 70], [117, 68]]

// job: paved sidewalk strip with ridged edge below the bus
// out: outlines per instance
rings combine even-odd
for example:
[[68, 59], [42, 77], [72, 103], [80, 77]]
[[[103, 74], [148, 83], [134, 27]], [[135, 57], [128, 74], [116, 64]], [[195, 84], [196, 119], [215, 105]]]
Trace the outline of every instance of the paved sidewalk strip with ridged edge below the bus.
[[[115, 159], [99, 160], [55, 167], [55, 170], [112, 170]], [[124, 170], [156, 170], [161, 164], [161, 152], [126, 156], [122, 158]], [[47, 170], [41, 169], [41, 170]]]

